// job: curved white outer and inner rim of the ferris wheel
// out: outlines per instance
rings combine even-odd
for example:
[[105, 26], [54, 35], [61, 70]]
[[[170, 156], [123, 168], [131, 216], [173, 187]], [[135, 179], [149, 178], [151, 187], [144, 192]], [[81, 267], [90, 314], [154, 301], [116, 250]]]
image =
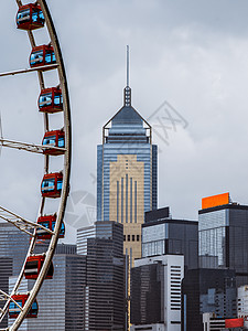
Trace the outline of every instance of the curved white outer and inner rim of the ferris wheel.
[[[22, 6], [21, 0], [15, 0], [18, 6]], [[24, 320], [29, 309], [31, 308], [33, 301], [35, 300], [39, 290], [45, 279], [46, 273], [50, 268], [50, 265], [52, 263], [56, 244], [60, 237], [60, 229], [63, 223], [64, 214], [65, 214], [65, 207], [66, 207], [66, 202], [67, 202], [67, 196], [68, 196], [68, 190], [69, 190], [69, 177], [71, 177], [71, 159], [72, 159], [72, 124], [71, 124], [71, 106], [69, 106], [69, 96], [68, 96], [68, 87], [67, 87], [67, 79], [66, 79], [66, 72], [65, 72], [65, 66], [63, 62], [63, 56], [62, 56], [62, 51], [60, 47], [58, 39], [56, 35], [56, 30], [48, 10], [48, 7], [46, 4], [45, 0], [37, 0], [37, 3], [40, 4], [42, 12], [45, 18], [45, 24], [46, 29], [50, 35], [51, 43], [54, 49], [55, 57], [56, 57], [56, 65], [54, 70], [57, 71], [58, 73], [58, 81], [60, 81], [60, 86], [62, 89], [62, 96], [63, 96], [63, 114], [64, 114], [64, 131], [65, 131], [65, 152], [64, 152], [64, 168], [63, 168], [63, 186], [62, 186], [62, 192], [61, 192], [61, 200], [60, 200], [60, 206], [57, 210], [57, 217], [56, 217], [56, 223], [54, 227], [54, 234], [51, 236], [50, 245], [47, 250], [45, 252], [45, 259], [41, 269], [41, 273], [37, 276], [37, 279], [34, 282], [34, 286], [32, 290], [29, 292], [29, 298], [19, 313], [19, 316], [15, 318], [14, 322], [12, 323], [11, 327], [9, 327], [7, 330], [18, 330], [18, 328], [21, 325], [22, 321]], [[31, 46], [35, 46], [35, 41], [32, 31], [28, 31], [28, 35], [30, 39]], [[43, 79], [43, 73], [41, 71], [37, 71], [37, 76], [39, 76], [39, 82], [40, 82], [40, 87], [43, 89], [44, 86], [44, 79]], [[48, 130], [48, 115], [44, 113], [44, 130]], [[44, 172], [48, 173], [50, 169], [50, 156], [44, 154]], [[41, 205], [39, 210], [39, 215], [43, 214], [44, 211], [44, 204], [45, 204], [45, 199], [42, 196], [41, 200]], [[34, 234], [36, 234], [36, 229], [34, 231]], [[35, 247], [35, 241], [36, 241], [36, 235], [31, 237], [31, 243], [28, 249], [26, 258], [31, 256], [34, 247]], [[17, 293], [18, 288], [20, 287], [21, 280], [24, 275], [24, 267], [25, 267], [25, 261], [26, 258], [23, 263], [22, 269], [20, 271], [20, 275], [18, 277], [18, 280], [14, 285], [14, 288], [10, 295], [12, 297], [13, 295]], [[9, 299], [10, 300], [10, 299]], [[7, 313], [8, 310], [8, 302], [6, 303], [2, 312], [2, 318]]]

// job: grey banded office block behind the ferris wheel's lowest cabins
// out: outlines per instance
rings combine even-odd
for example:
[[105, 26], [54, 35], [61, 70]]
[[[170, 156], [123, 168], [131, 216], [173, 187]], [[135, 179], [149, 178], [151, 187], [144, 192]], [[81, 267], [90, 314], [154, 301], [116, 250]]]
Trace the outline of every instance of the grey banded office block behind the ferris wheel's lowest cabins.
[[[46, 279], [37, 295], [37, 318], [24, 320], [19, 330], [85, 330], [86, 257], [56, 254], [53, 264], [53, 279]], [[17, 277], [10, 277], [10, 290], [15, 280]], [[33, 280], [24, 279], [20, 291], [26, 292], [32, 286]], [[12, 320], [9, 319], [9, 325], [11, 323]]]

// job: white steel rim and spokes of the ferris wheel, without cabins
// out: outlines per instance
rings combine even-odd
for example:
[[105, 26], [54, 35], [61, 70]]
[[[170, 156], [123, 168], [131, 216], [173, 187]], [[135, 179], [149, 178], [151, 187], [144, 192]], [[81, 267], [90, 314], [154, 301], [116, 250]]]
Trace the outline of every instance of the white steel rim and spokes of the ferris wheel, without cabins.
[[[18, 6], [21, 7], [22, 6], [22, 1], [21, 0], [15, 0]], [[58, 236], [60, 236], [60, 231], [61, 231], [61, 226], [62, 226], [62, 222], [63, 222], [63, 217], [64, 217], [64, 213], [65, 213], [65, 207], [66, 207], [66, 201], [67, 201], [67, 195], [68, 195], [68, 188], [69, 188], [69, 174], [71, 174], [71, 146], [72, 146], [72, 132], [71, 132], [71, 107], [69, 107], [69, 97], [68, 97], [68, 87], [67, 87], [67, 82], [66, 82], [66, 73], [65, 73], [65, 67], [64, 67], [64, 63], [63, 63], [63, 57], [62, 57], [62, 52], [61, 52], [61, 47], [58, 44], [58, 39], [56, 35], [56, 31], [50, 14], [50, 10], [46, 4], [45, 0], [37, 0], [37, 3], [40, 4], [42, 12], [44, 14], [45, 18], [45, 24], [46, 24], [46, 29], [51, 39], [51, 43], [53, 45], [54, 49], [54, 53], [55, 53], [55, 57], [56, 57], [56, 64], [55, 65], [51, 65], [50, 66], [45, 66], [45, 67], [40, 67], [40, 68], [31, 68], [31, 70], [21, 70], [21, 71], [15, 71], [15, 72], [7, 72], [3, 74], [0, 74], [0, 77], [3, 76], [14, 76], [15, 74], [22, 74], [22, 73], [29, 73], [29, 72], [37, 72], [37, 77], [39, 77], [39, 82], [40, 82], [40, 87], [41, 89], [45, 88], [44, 85], [44, 79], [43, 79], [43, 71], [46, 71], [47, 68], [50, 70], [56, 70], [57, 74], [58, 74], [58, 79], [60, 79], [60, 86], [62, 89], [62, 97], [63, 97], [63, 114], [64, 114], [64, 131], [65, 131], [65, 149], [63, 149], [64, 151], [64, 168], [63, 168], [63, 188], [62, 188], [62, 193], [61, 193], [61, 200], [60, 200], [60, 206], [57, 210], [57, 217], [56, 217], [56, 224], [55, 224], [55, 228], [54, 232], [52, 232], [52, 237], [50, 241], [50, 245], [47, 248], [47, 252], [45, 252], [45, 260], [43, 263], [41, 273], [39, 274], [39, 277], [33, 286], [33, 288], [30, 291], [30, 296], [24, 305], [24, 307], [22, 307], [21, 312], [19, 313], [18, 318], [13, 321], [13, 324], [11, 327], [9, 327], [7, 330], [9, 331], [15, 331], [19, 329], [19, 327], [21, 325], [22, 321], [24, 320], [26, 313], [29, 312], [34, 299], [37, 296], [37, 292], [45, 279], [46, 273], [48, 270], [48, 267], [51, 265], [54, 252], [55, 252], [55, 247], [58, 241]], [[43, 28], [44, 29], [44, 28]], [[34, 41], [34, 35], [32, 33], [32, 31], [28, 31], [28, 35], [30, 39], [30, 43], [31, 46], [34, 47], [35, 46], [35, 41]], [[44, 131], [48, 131], [48, 115], [44, 114]], [[24, 143], [24, 142], [17, 142], [13, 140], [7, 140], [3, 139], [1, 137], [0, 140], [0, 146], [6, 146], [6, 147], [11, 147], [11, 148], [17, 148], [17, 149], [22, 149], [22, 150], [26, 150], [26, 151], [32, 151], [32, 152], [37, 152], [37, 153], [43, 153], [43, 150], [45, 149], [45, 147], [43, 146], [36, 146], [36, 145], [31, 145], [31, 143]], [[48, 149], [54, 148], [54, 147], [50, 147], [47, 146]], [[54, 148], [54, 149], [60, 149], [61, 148]], [[44, 172], [47, 173], [48, 172], [48, 168], [50, 168], [50, 156], [44, 156]], [[44, 214], [44, 206], [45, 206], [45, 197], [41, 199], [41, 205], [40, 205], [40, 211], [39, 211], [39, 216], [42, 216]], [[26, 221], [18, 215], [15, 215], [12, 212], [9, 212], [7, 210], [4, 210], [3, 207], [0, 209], [0, 211], [2, 211], [2, 214], [0, 212], [0, 217], [4, 218], [8, 222], [13, 223], [15, 226], [18, 226], [20, 229], [26, 232], [28, 228], [33, 228], [33, 233], [31, 233], [30, 231], [29, 234], [31, 235], [31, 243], [30, 243], [30, 247], [28, 249], [28, 254], [26, 257], [29, 257], [32, 253], [33, 249], [35, 247], [35, 241], [36, 241], [36, 229], [37, 228], [43, 228], [40, 224], [37, 225], [36, 223]], [[6, 213], [6, 214], [4, 214]], [[43, 228], [46, 232], [47, 228]], [[24, 274], [24, 265], [22, 267], [22, 270], [19, 275], [19, 278], [15, 282], [15, 286], [11, 292], [11, 295], [6, 295], [2, 293], [2, 296], [7, 299], [7, 302], [3, 307], [3, 309], [1, 310], [0, 313], [0, 320], [3, 319], [4, 314], [8, 311], [8, 307], [10, 303], [11, 297], [13, 295], [15, 295], [18, 292], [18, 289], [21, 285], [22, 278], [23, 278], [23, 274]]]

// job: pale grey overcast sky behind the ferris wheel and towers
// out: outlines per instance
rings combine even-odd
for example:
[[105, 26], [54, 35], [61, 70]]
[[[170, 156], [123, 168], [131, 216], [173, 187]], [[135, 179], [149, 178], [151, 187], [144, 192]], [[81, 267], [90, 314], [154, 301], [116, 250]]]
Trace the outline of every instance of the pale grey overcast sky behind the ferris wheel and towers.
[[[75, 241], [76, 227], [94, 220], [96, 150], [101, 143], [101, 127], [122, 106], [127, 44], [132, 106], [154, 127], [153, 143], [160, 151], [159, 206], [169, 205], [173, 217], [197, 220], [203, 196], [230, 192], [233, 201], [248, 204], [248, 2], [47, 3], [62, 46], [72, 104], [66, 242]], [[1, 1], [0, 72], [29, 66], [31, 49], [25, 32], [15, 29], [15, 13], [14, 0]], [[44, 31], [35, 36], [37, 43], [48, 43]], [[47, 86], [56, 83], [51, 75], [45, 77]], [[41, 142], [39, 93], [35, 74], [0, 79], [4, 138]], [[57, 115], [54, 118], [52, 127], [57, 128], [61, 119]], [[1, 205], [35, 221], [43, 157], [3, 149], [0, 164]]]

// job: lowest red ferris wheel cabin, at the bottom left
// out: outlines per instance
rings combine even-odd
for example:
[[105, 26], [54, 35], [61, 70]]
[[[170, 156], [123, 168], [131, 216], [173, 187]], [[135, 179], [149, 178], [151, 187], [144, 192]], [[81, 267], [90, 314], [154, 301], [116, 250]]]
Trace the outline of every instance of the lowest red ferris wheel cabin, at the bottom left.
[[[25, 301], [29, 299], [29, 295], [14, 295], [12, 296], [12, 299], [20, 306], [20, 307], [24, 307]], [[9, 305], [9, 317], [10, 319], [15, 319], [18, 318], [19, 313], [21, 312], [21, 309], [18, 307], [18, 305], [15, 305], [13, 301], [10, 302]], [[33, 301], [28, 314], [26, 314], [26, 319], [29, 318], [36, 318], [37, 317], [37, 310], [39, 310], [39, 306], [37, 306], [37, 301], [36, 299]]]

